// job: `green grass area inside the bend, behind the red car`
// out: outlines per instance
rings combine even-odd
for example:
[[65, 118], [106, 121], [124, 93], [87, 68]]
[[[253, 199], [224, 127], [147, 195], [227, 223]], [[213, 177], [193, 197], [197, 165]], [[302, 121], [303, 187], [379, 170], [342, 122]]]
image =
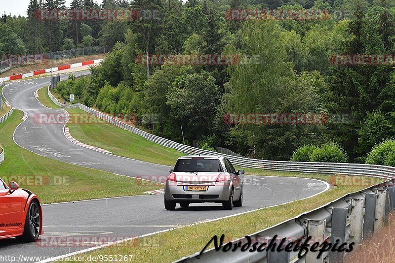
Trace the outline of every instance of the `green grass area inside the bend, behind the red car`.
[[8, 120], [0, 124], [0, 145], [5, 151], [0, 176], [6, 183], [12, 179], [33, 191], [43, 203], [142, 195], [158, 189], [158, 186], [141, 184], [139, 179], [66, 164], [19, 147], [12, 135], [22, 116], [22, 111], [14, 110]]

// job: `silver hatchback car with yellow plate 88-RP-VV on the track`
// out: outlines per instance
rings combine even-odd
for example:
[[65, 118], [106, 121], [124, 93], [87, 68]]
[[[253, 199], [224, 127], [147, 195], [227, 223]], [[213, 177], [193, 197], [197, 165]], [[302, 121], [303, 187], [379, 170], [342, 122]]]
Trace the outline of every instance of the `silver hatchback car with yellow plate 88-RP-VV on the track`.
[[183, 156], [174, 169], [169, 170], [164, 189], [164, 207], [174, 210], [176, 204], [188, 207], [190, 203], [222, 203], [225, 209], [241, 206], [243, 183], [223, 156]]

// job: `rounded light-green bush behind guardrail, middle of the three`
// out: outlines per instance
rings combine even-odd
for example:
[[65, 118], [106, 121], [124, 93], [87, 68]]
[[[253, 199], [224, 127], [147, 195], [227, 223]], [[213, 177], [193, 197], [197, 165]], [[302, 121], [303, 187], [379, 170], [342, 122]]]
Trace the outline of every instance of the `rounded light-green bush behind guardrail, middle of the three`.
[[347, 153], [337, 143], [325, 143], [316, 148], [311, 155], [311, 162], [317, 163], [347, 163]]

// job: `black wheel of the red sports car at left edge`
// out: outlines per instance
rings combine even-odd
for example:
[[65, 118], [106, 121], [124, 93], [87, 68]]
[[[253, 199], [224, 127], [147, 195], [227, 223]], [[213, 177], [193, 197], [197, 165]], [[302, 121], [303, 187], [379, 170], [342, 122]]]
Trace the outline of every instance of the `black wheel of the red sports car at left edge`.
[[23, 234], [18, 236], [17, 239], [23, 242], [33, 242], [40, 235], [40, 223], [41, 223], [41, 215], [40, 215], [40, 207], [39, 203], [36, 200], [33, 200], [30, 203], [28, 212], [26, 214], [25, 220], [25, 228], [23, 230]]

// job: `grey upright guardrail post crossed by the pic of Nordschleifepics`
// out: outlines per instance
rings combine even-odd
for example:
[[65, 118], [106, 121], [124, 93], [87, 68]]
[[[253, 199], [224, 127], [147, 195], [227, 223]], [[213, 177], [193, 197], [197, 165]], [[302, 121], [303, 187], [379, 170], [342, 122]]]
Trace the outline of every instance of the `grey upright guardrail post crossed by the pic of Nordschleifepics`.
[[[330, 236], [330, 242], [332, 244], [335, 244], [336, 240], [339, 240], [340, 244], [346, 241], [347, 212], [347, 208], [332, 208], [332, 227]], [[330, 262], [343, 263], [343, 257], [344, 252], [329, 252]]]

